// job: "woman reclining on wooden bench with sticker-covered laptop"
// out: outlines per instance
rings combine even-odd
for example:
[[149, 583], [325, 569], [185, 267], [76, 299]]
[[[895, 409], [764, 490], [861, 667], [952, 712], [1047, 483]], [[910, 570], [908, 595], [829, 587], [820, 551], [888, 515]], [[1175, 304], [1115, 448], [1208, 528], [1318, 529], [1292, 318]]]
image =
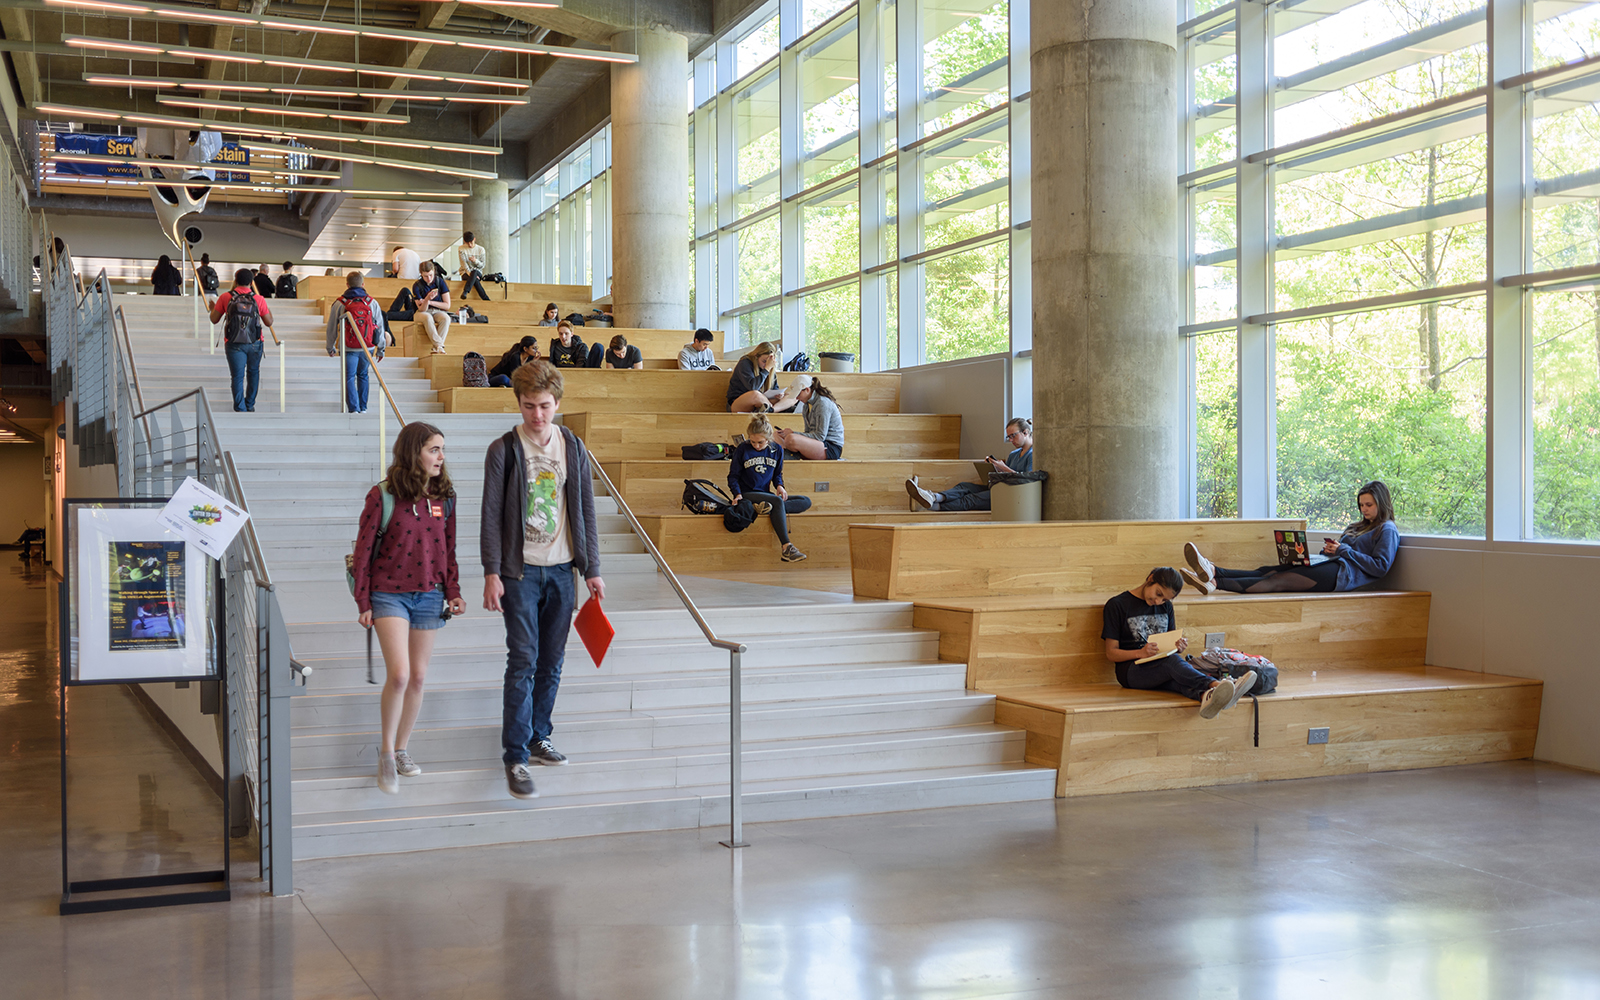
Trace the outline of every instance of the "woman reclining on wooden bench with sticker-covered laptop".
[[1355, 590], [1382, 579], [1395, 565], [1400, 550], [1400, 528], [1395, 526], [1395, 506], [1389, 486], [1371, 482], [1355, 494], [1362, 520], [1352, 523], [1338, 541], [1322, 541], [1322, 562], [1309, 566], [1280, 565], [1256, 570], [1226, 570], [1218, 566], [1194, 542], [1184, 542], [1182, 578], [1202, 594], [1229, 590], [1232, 594], [1280, 594], [1285, 590]]

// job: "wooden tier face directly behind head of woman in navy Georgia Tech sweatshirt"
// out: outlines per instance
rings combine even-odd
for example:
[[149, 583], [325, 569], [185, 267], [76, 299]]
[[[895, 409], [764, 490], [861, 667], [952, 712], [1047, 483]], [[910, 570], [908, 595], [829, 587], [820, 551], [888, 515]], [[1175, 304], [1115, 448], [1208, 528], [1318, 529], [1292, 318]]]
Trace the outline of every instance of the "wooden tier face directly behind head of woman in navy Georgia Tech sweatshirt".
[[[634, 374], [648, 374], [635, 371]], [[864, 376], [858, 376], [864, 378]], [[461, 390], [458, 390], [461, 392]], [[478, 390], [483, 392], [483, 390]], [[502, 390], [504, 392], [504, 390]], [[456, 413], [440, 394], [446, 413]], [[682, 459], [685, 445], [730, 442], [744, 434], [747, 413], [571, 413], [562, 421], [600, 461]], [[770, 414], [774, 427], [805, 429], [792, 413]], [[845, 454], [859, 461], [955, 459], [962, 453], [960, 414], [846, 413]], [[952, 518], [954, 515], [941, 515]]]

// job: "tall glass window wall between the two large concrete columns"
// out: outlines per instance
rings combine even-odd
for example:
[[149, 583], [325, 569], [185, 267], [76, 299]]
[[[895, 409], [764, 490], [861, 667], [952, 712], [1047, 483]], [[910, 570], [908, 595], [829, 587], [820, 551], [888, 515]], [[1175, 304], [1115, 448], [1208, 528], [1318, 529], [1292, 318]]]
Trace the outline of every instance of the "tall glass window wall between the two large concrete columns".
[[778, 0], [701, 53], [694, 325], [861, 371], [1026, 347], [1026, 0]]

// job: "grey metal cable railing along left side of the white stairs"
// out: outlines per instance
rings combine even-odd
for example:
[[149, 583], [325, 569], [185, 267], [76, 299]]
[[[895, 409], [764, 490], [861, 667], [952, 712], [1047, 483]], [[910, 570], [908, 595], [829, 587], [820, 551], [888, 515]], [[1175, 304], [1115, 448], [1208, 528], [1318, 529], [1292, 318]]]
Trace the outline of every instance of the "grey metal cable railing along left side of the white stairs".
[[[248, 512], [232, 454], [218, 440], [205, 387], [146, 405], [128, 322], [114, 306], [106, 272], [83, 288], [66, 245], [58, 251], [53, 240], [46, 240], [46, 261], [51, 384], [59, 398], [72, 395], [80, 461], [115, 464], [118, 496], [166, 498], [192, 477]], [[245, 522], [224, 555], [222, 600], [226, 739], [237, 768], [226, 779], [230, 787], [243, 782], [248, 814], [261, 837], [262, 882], [282, 896], [294, 885], [288, 699], [310, 669], [293, 658], [253, 520]]]

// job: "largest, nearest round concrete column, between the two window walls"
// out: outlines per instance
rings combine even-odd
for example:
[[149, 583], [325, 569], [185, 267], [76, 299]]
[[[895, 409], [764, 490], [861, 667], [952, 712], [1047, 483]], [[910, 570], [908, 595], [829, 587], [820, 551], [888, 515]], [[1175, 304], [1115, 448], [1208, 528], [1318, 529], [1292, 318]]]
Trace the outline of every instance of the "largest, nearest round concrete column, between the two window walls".
[[1048, 520], [1178, 517], [1170, 0], [1032, 5], [1034, 434]]

